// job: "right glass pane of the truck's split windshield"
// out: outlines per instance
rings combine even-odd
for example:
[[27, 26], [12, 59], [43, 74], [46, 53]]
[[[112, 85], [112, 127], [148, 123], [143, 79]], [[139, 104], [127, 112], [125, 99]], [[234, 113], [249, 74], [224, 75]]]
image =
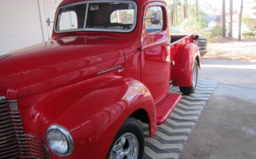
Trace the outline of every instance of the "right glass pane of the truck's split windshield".
[[131, 30], [135, 26], [136, 3], [89, 3], [86, 29]]

